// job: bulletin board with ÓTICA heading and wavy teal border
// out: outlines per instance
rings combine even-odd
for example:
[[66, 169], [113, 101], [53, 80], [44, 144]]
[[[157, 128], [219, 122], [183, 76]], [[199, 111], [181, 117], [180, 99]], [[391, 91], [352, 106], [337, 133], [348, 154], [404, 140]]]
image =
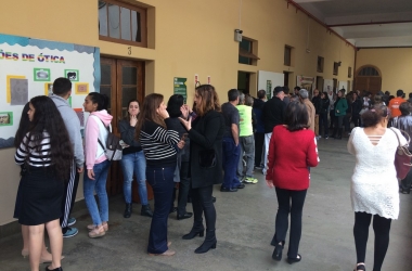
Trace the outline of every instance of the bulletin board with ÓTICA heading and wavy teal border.
[[99, 48], [0, 34], [0, 149], [13, 146], [24, 105], [52, 94], [59, 77], [73, 82], [67, 102], [83, 117], [85, 96], [100, 91]]

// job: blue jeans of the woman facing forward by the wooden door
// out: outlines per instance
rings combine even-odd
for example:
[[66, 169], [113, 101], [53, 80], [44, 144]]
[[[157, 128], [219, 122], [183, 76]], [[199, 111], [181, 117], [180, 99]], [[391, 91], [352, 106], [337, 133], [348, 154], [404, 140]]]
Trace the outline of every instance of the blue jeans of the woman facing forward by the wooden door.
[[131, 203], [131, 182], [133, 181], [133, 172], [136, 175], [136, 181], [139, 185], [139, 196], [142, 205], [147, 205], [147, 188], [146, 188], [146, 158], [143, 151], [126, 154], [121, 157], [123, 169], [123, 193], [125, 195], [125, 202]]

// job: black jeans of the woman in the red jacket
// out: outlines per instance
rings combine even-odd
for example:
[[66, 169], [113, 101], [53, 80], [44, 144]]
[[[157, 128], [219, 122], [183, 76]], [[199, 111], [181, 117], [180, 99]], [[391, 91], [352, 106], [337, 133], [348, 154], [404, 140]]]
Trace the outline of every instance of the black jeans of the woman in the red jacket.
[[288, 229], [288, 215], [291, 212], [291, 234], [287, 257], [296, 258], [299, 250], [299, 242], [301, 236], [301, 212], [304, 209], [307, 190], [294, 191], [279, 188], [275, 188], [275, 190], [279, 204], [274, 225], [276, 244], [280, 242], [285, 242]]

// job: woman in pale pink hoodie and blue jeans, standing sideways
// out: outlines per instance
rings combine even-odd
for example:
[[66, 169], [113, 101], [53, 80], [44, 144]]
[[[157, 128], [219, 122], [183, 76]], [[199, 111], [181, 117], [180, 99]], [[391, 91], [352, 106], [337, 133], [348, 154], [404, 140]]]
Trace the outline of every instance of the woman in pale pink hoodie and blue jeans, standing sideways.
[[[89, 237], [105, 235], [108, 230], [108, 199], [106, 181], [111, 166], [104, 153], [107, 139], [107, 128], [112, 116], [107, 113], [108, 98], [98, 92], [90, 92], [83, 103], [85, 112], [90, 113], [85, 128], [86, 172], [83, 177], [83, 194], [92, 224], [88, 225]], [[94, 198], [99, 197], [99, 207]]]

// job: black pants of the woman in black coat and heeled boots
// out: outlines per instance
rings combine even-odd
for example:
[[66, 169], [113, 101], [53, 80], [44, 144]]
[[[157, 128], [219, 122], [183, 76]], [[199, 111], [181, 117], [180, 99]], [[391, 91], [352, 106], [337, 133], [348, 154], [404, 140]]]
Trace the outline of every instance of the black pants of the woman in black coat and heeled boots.
[[211, 202], [211, 192], [214, 185], [191, 189], [192, 205], [193, 205], [193, 229], [202, 230], [203, 227], [203, 214], [205, 214], [206, 230], [215, 231], [216, 225], [216, 209]]

